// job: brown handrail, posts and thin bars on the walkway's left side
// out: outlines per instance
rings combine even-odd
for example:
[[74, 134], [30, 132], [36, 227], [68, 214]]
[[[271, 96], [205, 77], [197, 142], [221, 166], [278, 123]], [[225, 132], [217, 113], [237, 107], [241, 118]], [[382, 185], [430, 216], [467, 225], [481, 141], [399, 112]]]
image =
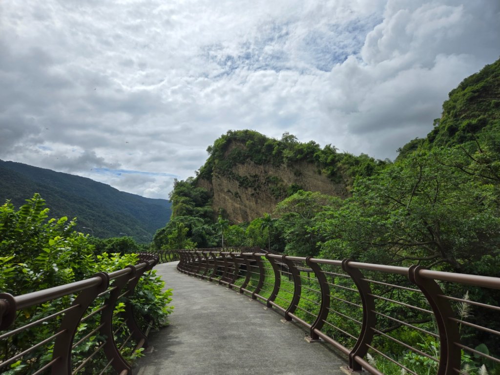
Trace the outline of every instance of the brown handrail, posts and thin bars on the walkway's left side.
[[[55, 320], [55, 329], [51, 336], [35, 343], [30, 348], [16, 352], [9, 358], [1, 358], [0, 372], [4, 372], [9, 368], [9, 365], [18, 359], [26, 357], [35, 348], [53, 342], [51, 359], [47, 363], [42, 363], [42, 367], [35, 373], [48, 373], [47, 371], [50, 371], [52, 375], [75, 374], [88, 366], [94, 355], [102, 351], [107, 364], [104, 369], [99, 369], [99, 371], [102, 370], [101, 373], [106, 368], [113, 367], [116, 373], [131, 374], [131, 366], [123, 358], [117, 346], [116, 334], [119, 329], [112, 326], [115, 306], [120, 297], [124, 295], [133, 296], [135, 286], [142, 274], [154, 267], [159, 259], [160, 257], [154, 253], [140, 253], [137, 264], [128, 265], [114, 272], [98, 272], [85, 280], [17, 296], [0, 293], [0, 330], [7, 330], [0, 335], [0, 340], [11, 339], [21, 331], [58, 319]], [[124, 289], [126, 289], [125, 292], [123, 292]], [[74, 299], [72, 299], [70, 306], [65, 306], [49, 316], [31, 321], [23, 326], [16, 326], [16, 316], [21, 310], [30, 311], [42, 303], [55, 301], [65, 296], [73, 296]], [[88, 313], [88, 308], [95, 303], [97, 305], [93, 311]], [[126, 327], [130, 332], [129, 337], [140, 343], [140, 346], [147, 346], [146, 335], [141, 331], [135, 320], [129, 298], [124, 299], [124, 304], [124, 311], [119, 313], [119, 316], [124, 321], [122, 328]], [[89, 319], [90, 317], [93, 317], [93, 319]], [[78, 327], [82, 321], [85, 321], [85, 323], [92, 321], [95, 323], [95, 327], [74, 343]], [[96, 334], [102, 337], [99, 346], [82, 362], [72, 363], [73, 350], [78, 345], [85, 343], [91, 335]], [[77, 367], [73, 368], [74, 365]], [[85, 373], [90, 373], [89, 371], [92, 371], [92, 369], [86, 369]]]

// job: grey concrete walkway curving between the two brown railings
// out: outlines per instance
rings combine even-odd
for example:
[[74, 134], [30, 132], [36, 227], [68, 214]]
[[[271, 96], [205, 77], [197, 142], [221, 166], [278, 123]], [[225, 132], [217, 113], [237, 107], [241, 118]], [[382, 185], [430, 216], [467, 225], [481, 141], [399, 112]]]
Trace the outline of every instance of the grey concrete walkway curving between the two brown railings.
[[345, 375], [345, 358], [324, 342], [307, 343], [300, 326], [225, 286], [180, 273], [176, 264], [155, 267], [173, 288], [175, 309], [169, 326], [150, 333], [134, 375]]

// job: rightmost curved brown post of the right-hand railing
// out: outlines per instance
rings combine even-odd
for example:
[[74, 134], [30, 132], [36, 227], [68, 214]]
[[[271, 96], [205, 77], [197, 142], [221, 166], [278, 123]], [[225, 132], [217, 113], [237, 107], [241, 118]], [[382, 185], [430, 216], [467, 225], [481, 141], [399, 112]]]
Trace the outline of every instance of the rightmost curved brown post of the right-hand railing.
[[439, 294], [444, 294], [442, 289], [435, 280], [421, 277], [419, 274], [421, 269], [425, 268], [420, 265], [410, 266], [408, 278], [420, 288], [434, 312], [440, 342], [439, 365], [436, 374], [451, 375], [460, 368], [461, 361], [461, 350], [453, 344], [460, 342], [458, 324], [450, 319], [454, 317], [454, 312], [449, 302], [438, 297]]

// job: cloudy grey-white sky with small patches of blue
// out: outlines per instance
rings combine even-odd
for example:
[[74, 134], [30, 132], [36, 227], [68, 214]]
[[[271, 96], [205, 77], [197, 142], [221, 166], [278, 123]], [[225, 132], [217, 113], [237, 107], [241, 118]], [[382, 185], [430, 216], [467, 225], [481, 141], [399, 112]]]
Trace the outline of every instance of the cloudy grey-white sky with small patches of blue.
[[498, 0], [1, 0], [0, 159], [151, 198], [229, 129], [394, 159], [498, 35]]

